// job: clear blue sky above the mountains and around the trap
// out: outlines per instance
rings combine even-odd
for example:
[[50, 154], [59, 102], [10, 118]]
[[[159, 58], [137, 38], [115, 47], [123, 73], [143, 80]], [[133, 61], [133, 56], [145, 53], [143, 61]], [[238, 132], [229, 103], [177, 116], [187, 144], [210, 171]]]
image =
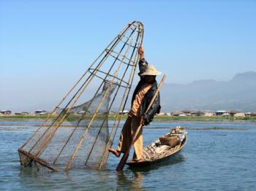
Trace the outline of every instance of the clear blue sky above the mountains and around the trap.
[[132, 20], [166, 82], [256, 71], [256, 1], [1, 0], [0, 109], [56, 104]]

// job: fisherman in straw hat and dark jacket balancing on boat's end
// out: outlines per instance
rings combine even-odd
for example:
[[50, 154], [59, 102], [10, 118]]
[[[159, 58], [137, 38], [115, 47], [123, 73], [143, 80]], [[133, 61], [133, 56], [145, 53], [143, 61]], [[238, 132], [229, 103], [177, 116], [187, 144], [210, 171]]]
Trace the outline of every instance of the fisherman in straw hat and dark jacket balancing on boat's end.
[[[108, 149], [109, 152], [119, 157], [122, 153], [127, 152], [129, 145], [132, 143], [133, 135], [140, 125], [149, 125], [153, 120], [155, 114], [160, 112], [160, 95], [158, 93], [157, 98], [155, 98], [154, 103], [147, 113], [146, 109], [154, 94], [157, 91], [157, 81], [156, 76], [161, 74], [157, 71], [153, 65], [148, 65], [144, 58], [143, 47], [138, 48], [138, 53], [140, 55], [139, 61], [139, 76], [140, 82], [138, 82], [135, 92], [132, 95], [132, 108], [129, 111], [124, 127], [121, 130], [121, 135], [118, 142], [117, 149]], [[135, 152], [133, 155], [133, 162], [140, 162], [143, 160], [143, 135], [142, 128], [138, 133], [138, 137], [135, 139], [134, 143]]]

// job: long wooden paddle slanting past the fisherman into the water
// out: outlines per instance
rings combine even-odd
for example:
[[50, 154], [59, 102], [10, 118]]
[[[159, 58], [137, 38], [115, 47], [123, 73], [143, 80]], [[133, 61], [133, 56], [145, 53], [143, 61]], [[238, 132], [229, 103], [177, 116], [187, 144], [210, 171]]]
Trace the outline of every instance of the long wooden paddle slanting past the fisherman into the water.
[[[153, 98], [151, 99], [150, 103], [148, 104], [148, 108], [147, 108], [147, 110], [146, 110], [145, 113], [148, 112], [148, 110], [151, 108], [151, 106], [152, 106], [152, 104], [153, 104], [155, 98], [157, 98], [157, 94], [159, 93], [159, 90], [161, 89], [162, 83], [165, 81], [165, 78], [166, 78], [166, 75], [164, 75], [164, 76], [162, 77], [162, 80], [161, 80], [161, 82], [159, 83], [159, 86], [157, 87], [157, 91], [156, 91], [156, 93], [154, 93], [154, 96], [153, 96]], [[142, 128], [142, 126], [143, 126], [143, 124], [140, 124], [140, 126], [138, 127], [138, 129], [137, 129], [136, 132], [135, 132], [135, 135], [132, 136], [132, 137], [133, 137], [132, 142], [131, 142], [131, 144], [129, 145], [129, 147], [128, 147], [128, 149], [127, 149], [127, 152], [125, 152], [124, 155], [123, 155], [123, 157], [121, 157], [121, 160], [120, 160], [120, 162], [118, 163], [118, 166], [116, 167], [116, 171], [122, 171], [122, 170], [123, 170], [124, 165], [125, 165], [125, 163], [127, 163], [127, 159], [128, 159], [128, 157], [129, 157], [129, 151], [130, 151], [130, 149], [132, 148], [132, 145], [135, 143], [135, 140], [136, 140], [136, 138], [137, 138], [137, 136], [138, 136], [138, 133], [140, 132], [140, 128]]]

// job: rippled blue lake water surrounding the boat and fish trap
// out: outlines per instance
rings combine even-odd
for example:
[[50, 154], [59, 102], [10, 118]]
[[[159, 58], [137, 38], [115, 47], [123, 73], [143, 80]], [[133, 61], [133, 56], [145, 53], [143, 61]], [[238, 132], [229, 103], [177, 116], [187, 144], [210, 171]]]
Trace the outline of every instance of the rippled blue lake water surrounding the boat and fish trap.
[[[40, 173], [20, 167], [17, 149], [40, 121], [0, 121], [0, 190], [255, 190], [255, 122], [152, 123], [150, 144], [176, 125], [187, 127], [186, 147], [165, 163], [116, 173], [111, 156], [104, 171]], [[8, 124], [8, 125], [7, 125]], [[165, 127], [159, 128], [157, 127]], [[116, 143], [114, 144], [116, 146]]]

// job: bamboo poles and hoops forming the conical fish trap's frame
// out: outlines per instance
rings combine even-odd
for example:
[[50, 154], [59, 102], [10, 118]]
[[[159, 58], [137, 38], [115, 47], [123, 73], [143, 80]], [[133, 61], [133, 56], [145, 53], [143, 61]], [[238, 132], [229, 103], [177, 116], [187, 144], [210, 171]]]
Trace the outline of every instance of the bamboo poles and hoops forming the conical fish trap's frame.
[[[135, 28], [132, 28], [135, 27]], [[125, 36], [126, 32], [129, 31], [130, 29], [132, 29], [132, 32], [129, 34], [129, 36]], [[137, 34], [137, 38], [134, 40], [135, 35]], [[127, 39], [126, 41], [124, 41], [124, 39]], [[129, 42], [130, 41], [130, 42]], [[118, 45], [118, 43], [121, 42], [123, 43], [123, 46], [121, 47], [121, 50], [119, 52], [115, 52], [114, 48]], [[129, 43], [128, 43], [129, 42]], [[132, 42], [135, 42], [135, 45], [132, 45]], [[99, 86], [99, 88], [97, 89], [97, 92], [95, 93], [95, 95], [97, 95], [97, 93], [99, 92], [100, 88], [102, 87], [102, 85], [104, 85], [104, 83], [106, 81], [110, 82], [110, 84], [114, 83], [114, 79], [118, 79], [118, 85], [117, 85], [117, 90], [115, 95], [113, 95], [112, 101], [110, 102], [110, 106], [108, 108], [108, 112], [110, 112], [111, 107], [113, 106], [113, 102], [116, 99], [116, 95], [118, 93], [118, 90], [120, 87], [125, 87], [124, 90], [124, 94], [121, 98], [120, 104], [118, 106], [118, 112], [116, 115], [116, 119], [112, 125], [112, 127], [110, 128], [110, 136], [108, 139], [108, 142], [106, 144], [106, 147], [104, 149], [104, 152], [102, 153], [102, 157], [99, 160], [99, 165], [98, 168], [101, 169], [102, 168], [102, 164], [108, 161], [108, 156], [109, 156], [109, 152], [108, 152], [108, 147], [112, 147], [113, 144], [113, 140], [116, 137], [116, 132], [118, 129], [118, 126], [120, 124], [120, 120], [122, 117], [122, 112], [125, 108], [125, 105], [127, 104], [127, 98], [129, 95], [129, 91], [130, 88], [132, 86], [132, 81], [135, 75], [135, 69], [136, 66], [138, 64], [138, 60], [139, 60], [139, 55], [138, 55], [138, 47], [141, 46], [143, 42], [143, 24], [138, 22], [138, 21], [133, 21], [132, 23], [129, 23], [128, 26], [126, 26], [119, 34], [118, 36], [116, 36], [112, 42], [110, 42], [110, 44], [108, 44], [108, 46], [105, 48], [104, 51], [102, 51], [102, 53], [99, 55], [99, 57], [91, 64], [91, 66], [89, 66], [89, 69], [87, 69], [84, 74], [82, 75], [82, 77], [80, 77], [80, 79], [78, 79], [78, 82], [75, 83], [75, 85], [72, 86], [72, 88], [68, 91], [68, 93], [66, 95], [64, 95], [64, 98], [61, 99], [61, 101], [59, 102], [59, 104], [50, 112], [50, 114], [48, 114], [48, 117], [45, 119], [44, 122], [42, 122], [42, 125], [39, 126], [39, 128], [32, 134], [32, 136], [23, 144], [22, 147], [20, 147], [20, 149], [18, 149], [18, 152], [22, 155], [26, 155], [26, 157], [28, 157], [31, 162], [36, 162], [39, 163], [40, 165], [45, 166], [46, 168], [50, 169], [51, 171], [59, 171], [59, 169], [53, 168], [49, 163], [47, 163], [47, 161], [42, 160], [39, 158], [39, 156], [42, 154], [43, 150], [45, 149], [45, 147], [47, 147], [48, 143], [50, 142], [51, 139], [53, 139], [53, 136], [55, 135], [56, 131], [58, 130], [58, 128], [60, 127], [60, 125], [62, 124], [62, 122], [64, 122], [64, 120], [68, 117], [70, 110], [73, 108], [73, 106], [75, 106], [75, 103], [78, 101], [78, 99], [80, 98], [80, 96], [83, 94], [83, 92], [86, 90], [86, 87], [88, 87], [88, 85], [90, 84], [91, 80], [94, 77], [98, 77], [99, 79], [102, 79], [101, 85]], [[110, 47], [110, 45], [112, 44], [112, 46]], [[121, 55], [122, 50], [124, 50], [124, 47], [127, 47], [126, 52], [124, 53], [124, 55]], [[129, 49], [132, 48], [132, 55], [130, 56], [130, 58], [127, 58], [127, 53], [129, 52]], [[101, 61], [99, 61], [98, 65], [96, 66], [95, 69], [92, 68], [92, 66], [94, 66], [95, 63], [97, 63], [97, 61], [99, 60], [99, 58], [103, 55], [104, 57], [102, 58]], [[116, 54], [116, 55], [113, 55]], [[132, 61], [132, 58], [135, 54], [135, 58], [134, 61]], [[108, 56], [111, 55], [113, 58], [115, 58], [115, 61], [112, 63], [112, 65], [110, 66], [110, 69], [108, 70], [108, 72], [105, 71], [101, 71], [100, 67], [105, 63], [106, 59], [108, 58]], [[119, 59], [118, 57], [121, 55], [121, 59]], [[124, 59], [127, 59], [128, 63], [124, 61]], [[110, 74], [111, 69], [113, 69], [113, 66], [116, 64], [116, 61], [120, 61], [120, 64], [118, 66], [118, 69], [116, 71], [115, 74]], [[132, 63], [132, 64], [131, 64]], [[127, 68], [124, 71], [124, 74], [122, 75], [121, 78], [118, 78], [118, 71], [121, 69], [121, 64], [126, 64]], [[129, 74], [129, 79], [128, 82], [124, 81], [124, 77], [127, 74], [127, 70], [129, 69], [129, 67], [132, 67], [132, 70]], [[102, 74], [105, 74], [105, 78], [103, 79], [102, 77], [99, 77], [97, 75], [97, 73], [100, 72]], [[70, 93], [72, 93], [72, 90], [75, 89], [75, 87], [78, 86], [78, 84], [82, 81], [82, 79], [86, 76], [86, 74], [89, 74], [89, 77], [85, 80], [85, 82], [83, 82], [83, 84], [78, 88], [77, 92], [75, 93], [75, 95], [72, 96], [72, 98], [68, 101], [67, 105], [64, 107], [64, 109], [61, 111], [60, 114], [58, 114], [57, 117], [55, 117], [53, 119], [53, 122], [50, 123], [50, 125], [46, 125], [47, 122], [50, 120], [50, 118], [53, 116], [53, 113], [56, 112], [56, 109], [59, 108], [59, 106], [66, 100], [67, 96], [70, 95]], [[110, 81], [107, 79], [108, 77], [112, 78]], [[122, 85], [122, 83], [124, 83], [124, 85]], [[109, 93], [109, 89], [105, 92], [105, 95], [103, 96], [102, 100], [100, 101], [99, 105], [97, 106], [96, 111], [94, 112], [93, 117], [91, 118], [91, 121], [89, 122], [89, 125], [87, 126], [87, 128], [84, 130], [83, 132], [83, 136], [80, 139], [77, 147], [75, 148], [75, 151], [72, 153], [72, 157], [69, 159], [69, 163], [67, 163], [65, 171], [68, 172], [70, 165], [72, 163], [72, 161], [75, 158], [76, 153], [78, 152], [78, 150], [80, 149], [80, 146], [83, 142], [83, 139], [85, 139], [86, 134], [89, 130], [89, 128], [91, 128], [91, 124], [92, 122], [94, 122], [95, 117], [97, 116], [98, 112], [99, 112], [99, 108], [102, 105], [103, 101], [105, 101], [106, 96]], [[95, 97], [94, 95], [94, 97]], [[92, 101], [94, 100], [94, 98], [91, 100], [89, 106], [91, 106]], [[73, 101], [73, 102], [72, 102]], [[71, 104], [69, 106], [69, 104]], [[69, 106], [69, 107], [68, 107]], [[88, 106], [88, 107], [89, 107]], [[61, 151], [59, 152], [59, 154], [57, 155], [57, 157], [55, 158], [54, 163], [56, 163], [56, 160], [58, 160], [59, 156], [61, 155], [61, 152], [63, 151], [64, 147], [66, 147], [67, 143], [69, 142], [70, 138], [72, 137], [73, 133], [75, 132], [76, 128], [78, 128], [80, 122], [86, 117], [86, 112], [84, 112], [82, 114], [82, 116], [80, 117], [80, 119], [78, 120], [77, 125], [75, 126], [75, 128], [72, 130], [72, 133], [69, 135], [67, 141], [65, 142], [64, 146], [61, 148]], [[108, 120], [108, 118], [105, 118], [102, 122], [102, 125], [100, 126], [100, 130], [102, 129], [102, 126], [104, 125], [105, 120]], [[29, 141], [31, 141], [31, 139], [34, 138], [34, 136], [37, 134], [37, 132], [39, 131], [40, 128], [47, 126], [48, 128], [46, 128], [45, 132], [42, 133], [42, 136], [39, 137], [39, 139], [36, 141], [36, 143], [29, 149], [28, 152], [26, 152], [25, 150], [23, 150], [23, 148], [29, 143]], [[48, 132], [48, 130], [50, 128], [53, 128], [53, 132], [50, 133], [50, 135], [48, 136], [48, 138], [46, 139], [46, 141], [43, 142], [42, 145], [40, 145], [39, 149], [37, 150], [37, 152], [33, 155], [31, 154], [31, 151], [37, 146], [37, 144], [39, 143], [39, 141], [42, 139], [43, 136], [45, 136], [45, 134]], [[89, 157], [91, 155], [91, 152], [94, 149], [94, 145], [97, 141], [97, 138], [99, 136], [100, 130], [94, 140], [94, 144], [91, 147], [91, 150], [89, 152], [89, 156], [85, 159], [85, 163], [88, 162]], [[21, 163], [21, 161], [20, 161]]]

